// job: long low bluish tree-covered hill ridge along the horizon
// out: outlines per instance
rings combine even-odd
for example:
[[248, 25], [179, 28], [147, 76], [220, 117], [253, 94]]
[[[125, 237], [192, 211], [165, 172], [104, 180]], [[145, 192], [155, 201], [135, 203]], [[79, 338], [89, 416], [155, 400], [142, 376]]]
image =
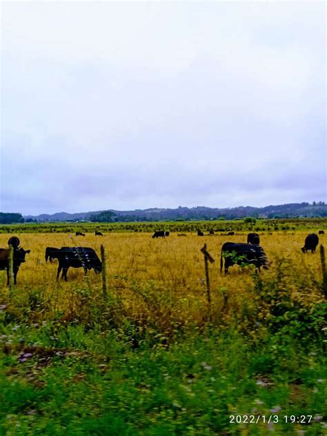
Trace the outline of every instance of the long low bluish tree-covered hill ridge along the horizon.
[[57, 212], [53, 215], [41, 214], [37, 216], [27, 215], [25, 221], [101, 221], [108, 217], [109, 222], [121, 221], [175, 221], [179, 220], [207, 220], [207, 219], [241, 219], [244, 217], [254, 218], [293, 218], [293, 217], [327, 217], [327, 205], [324, 201], [318, 203], [290, 203], [277, 206], [265, 206], [255, 208], [252, 206], [239, 206], [237, 208], [207, 208], [197, 206], [195, 208], [181, 207], [177, 209], [150, 208], [136, 210], [98, 210], [93, 212]]

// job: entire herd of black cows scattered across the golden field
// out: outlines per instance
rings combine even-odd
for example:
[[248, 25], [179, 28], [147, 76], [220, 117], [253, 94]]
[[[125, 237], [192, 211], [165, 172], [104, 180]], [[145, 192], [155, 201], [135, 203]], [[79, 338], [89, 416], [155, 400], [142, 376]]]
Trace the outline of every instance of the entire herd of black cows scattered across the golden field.
[[[212, 235], [210, 232], [210, 235]], [[234, 232], [228, 232], [228, 235], [234, 235]], [[85, 236], [84, 233], [76, 232], [76, 235]], [[103, 236], [101, 232], [96, 231], [95, 235]], [[204, 232], [197, 230], [198, 236], [204, 236]], [[319, 230], [319, 235], [324, 235], [324, 230]], [[169, 236], [168, 231], [156, 230], [152, 235], [152, 238]], [[319, 237], [315, 233], [310, 233], [305, 241], [304, 247], [301, 248], [302, 252], [306, 253], [311, 251], [315, 253], [317, 245], [319, 243]], [[260, 270], [261, 266], [267, 269], [271, 262], [268, 261], [264, 249], [259, 245], [260, 238], [257, 233], [248, 233], [247, 244], [225, 242], [221, 246], [221, 260], [220, 271], [224, 266], [225, 274], [228, 273], [228, 268], [233, 265], [254, 265], [256, 270]], [[25, 262], [25, 257], [30, 250], [24, 250], [20, 246], [19, 238], [16, 236], [8, 239], [9, 248], [0, 248], [0, 270], [7, 271], [7, 284], [10, 282], [10, 252], [12, 252], [12, 273], [14, 277], [14, 284], [17, 284], [17, 273], [19, 266]], [[61, 278], [67, 281], [68, 269], [83, 267], [84, 273], [88, 270], [95, 270], [95, 273], [99, 274], [102, 270], [102, 265], [97, 253], [93, 248], [89, 247], [47, 247], [46, 248], [46, 262], [50, 262], [53, 259], [58, 259], [57, 279], [61, 273]], [[224, 264], [225, 261], [225, 264]]]

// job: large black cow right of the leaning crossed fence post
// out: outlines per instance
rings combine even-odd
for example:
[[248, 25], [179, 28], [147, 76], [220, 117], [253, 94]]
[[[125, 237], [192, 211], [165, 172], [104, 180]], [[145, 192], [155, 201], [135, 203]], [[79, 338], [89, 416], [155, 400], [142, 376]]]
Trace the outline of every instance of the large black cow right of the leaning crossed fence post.
[[225, 274], [228, 273], [228, 268], [233, 265], [255, 265], [256, 270], [260, 270], [261, 266], [267, 269], [270, 265], [264, 249], [252, 244], [225, 242], [221, 247], [220, 273], [223, 269], [223, 259], [225, 259]]

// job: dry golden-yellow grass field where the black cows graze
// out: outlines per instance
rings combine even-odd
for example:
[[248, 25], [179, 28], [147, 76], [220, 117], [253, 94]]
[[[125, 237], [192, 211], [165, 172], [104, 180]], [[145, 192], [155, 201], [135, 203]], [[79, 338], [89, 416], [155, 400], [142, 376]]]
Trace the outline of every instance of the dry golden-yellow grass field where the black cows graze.
[[[303, 254], [305, 232], [274, 232], [260, 234], [260, 245], [273, 265], [261, 271], [261, 279], [269, 281], [282, 271], [281, 290], [290, 293], [292, 299], [306, 299], [313, 304], [321, 298], [314, 283], [321, 281], [319, 246], [315, 254]], [[152, 239], [152, 234], [141, 232], [110, 233], [103, 237], [87, 234], [76, 237], [67, 233], [17, 234], [24, 249], [30, 249], [26, 263], [21, 264], [17, 286], [6, 286], [6, 271], [0, 276], [0, 299], [12, 301], [19, 310], [26, 309], [34, 301], [30, 313], [32, 319], [54, 319], [58, 313], [65, 319], [88, 318], [90, 302], [102, 298], [101, 275], [93, 270], [84, 277], [83, 268], [70, 268], [68, 282], [56, 279], [57, 259], [46, 263], [47, 246], [86, 246], [94, 248], [100, 257], [101, 244], [106, 249], [108, 296], [119, 301], [117, 312], [139, 320], [141, 324], [157, 322], [162, 330], [186, 324], [201, 324], [207, 314], [204, 256], [200, 249], [207, 250], [215, 263], [209, 264], [211, 310], [224, 317], [251, 312], [253, 299], [253, 275], [250, 268], [233, 266], [228, 275], [220, 273], [221, 245], [226, 241], [246, 242], [247, 232], [234, 236], [206, 235], [195, 233], [178, 236], [170, 233], [166, 239]], [[324, 244], [325, 235], [319, 235]], [[8, 234], [0, 235], [0, 246], [6, 247]], [[31, 295], [34, 295], [31, 300]], [[37, 297], [35, 297], [37, 295]], [[34, 299], [33, 299], [34, 298]], [[42, 308], [37, 306], [42, 301]], [[224, 310], [228, 299], [228, 310]], [[226, 308], [225, 308], [226, 309]], [[228, 314], [226, 313], [228, 312]], [[226, 319], [228, 321], [228, 319]], [[170, 326], [168, 328], [168, 326]]]

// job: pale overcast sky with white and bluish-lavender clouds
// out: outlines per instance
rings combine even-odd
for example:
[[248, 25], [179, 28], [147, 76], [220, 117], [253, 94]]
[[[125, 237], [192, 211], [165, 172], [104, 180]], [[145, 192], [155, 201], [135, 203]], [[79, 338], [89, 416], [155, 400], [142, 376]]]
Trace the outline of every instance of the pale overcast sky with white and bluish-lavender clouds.
[[3, 2], [3, 212], [326, 201], [326, 3]]

